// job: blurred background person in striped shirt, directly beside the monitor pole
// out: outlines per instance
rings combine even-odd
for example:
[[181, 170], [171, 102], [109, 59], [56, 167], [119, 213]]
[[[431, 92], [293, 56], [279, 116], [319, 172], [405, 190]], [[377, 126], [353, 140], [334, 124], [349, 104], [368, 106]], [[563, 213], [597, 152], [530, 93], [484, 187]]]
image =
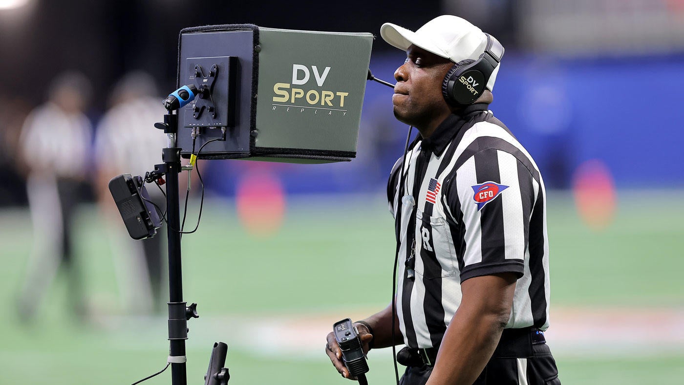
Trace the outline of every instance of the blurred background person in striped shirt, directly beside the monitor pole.
[[[131, 72], [114, 87], [107, 111], [96, 130], [98, 200], [109, 226], [116, 277], [127, 310], [138, 314], [158, 313], [162, 300], [162, 273], [165, 271], [163, 244], [166, 232], [157, 230], [152, 238], [135, 241], [121, 222], [109, 193], [109, 181], [119, 174], [145, 176], [161, 163], [166, 134], [154, 127], [166, 110], [157, 96], [154, 79], [145, 72]], [[163, 211], [166, 203], [160, 189], [146, 185], [150, 200]]]

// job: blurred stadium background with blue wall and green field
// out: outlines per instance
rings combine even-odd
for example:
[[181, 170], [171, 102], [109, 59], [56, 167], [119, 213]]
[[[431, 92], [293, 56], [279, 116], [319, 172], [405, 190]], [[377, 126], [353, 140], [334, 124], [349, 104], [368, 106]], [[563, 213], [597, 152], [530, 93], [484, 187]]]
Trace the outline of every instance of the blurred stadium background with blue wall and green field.
[[[66, 314], [64, 280], [33, 323], [14, 312], [36, 240], [13, 141], [17, 120], [42, 103], [55, 75], [77, 69], [92, 80], [88, 116], [96, 123], [125, 72], [146, 70], [161, 90], [174, 88], [182, 27], [377, 35], [385, 21], [415, 29], [445, 12], [469, 18], [507, 50], [491, 108], [534, 156], [550, 191], [548, 339], [562, 380], [681, 381], [684, 1], [0, 0], [0, 384], [129, 384], [161, 369], [168, 353], [166, 317], [127, 314], [118, 297], [115, 254], [94, 202], [77, 217], [91, 322]], [[371, 70], [391, 80], [404, 54], [379, 37], [373, 45]], [[384, 187], [405, 134], [388, 90], [369, 83], [351, 163], [205, 163], [205, 214], [198, 233], [183, 239], [184, 297], [200, 313], [189, 322], [190, 383], [202, 381], [214, 341], [229, 345], [231, 383], [345, 383], [323, 353], [324, 336], [334, 321], [389, 302], [394, 248]], [[192, 222], [198, 200], [190, 206]], [[339, 271], [341, 261], [358, 271]], [[369, 382], [391, 383], [391, 355], [370, 358]], [[169, 382], [167, 372], [147, 383]]]

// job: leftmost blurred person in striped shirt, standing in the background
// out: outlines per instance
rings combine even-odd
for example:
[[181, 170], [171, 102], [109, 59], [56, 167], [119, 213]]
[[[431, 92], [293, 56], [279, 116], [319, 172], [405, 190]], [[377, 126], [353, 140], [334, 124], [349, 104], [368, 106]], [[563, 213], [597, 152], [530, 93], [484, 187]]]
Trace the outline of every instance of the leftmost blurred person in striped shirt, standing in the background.
[[77, 319], [86, 316], [81, 272], [75, 261], [73, 218], [88, 196], [88, 161], [92, 127], [83, 114], [90, 99], [90, 81], [79, 72], [57, 76], [48, 100], [27, 116], [19, 153], [27, 168], [27, 194], [34, 245], [27, 276], [18, 297], [25, 320], [36, 310], [57, 271], [68, 274], [68, 303]]

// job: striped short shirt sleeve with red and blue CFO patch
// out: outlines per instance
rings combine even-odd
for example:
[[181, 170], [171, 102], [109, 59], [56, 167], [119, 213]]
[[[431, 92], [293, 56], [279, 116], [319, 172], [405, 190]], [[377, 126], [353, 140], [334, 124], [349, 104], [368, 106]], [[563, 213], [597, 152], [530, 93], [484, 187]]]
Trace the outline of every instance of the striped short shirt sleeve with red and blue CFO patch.
[[454, 239], [461, 282], [514, 273], [521, 278], [538, 183], [508, 152], [477, 152], [448, 181], [445, 204], [458, 228]]

